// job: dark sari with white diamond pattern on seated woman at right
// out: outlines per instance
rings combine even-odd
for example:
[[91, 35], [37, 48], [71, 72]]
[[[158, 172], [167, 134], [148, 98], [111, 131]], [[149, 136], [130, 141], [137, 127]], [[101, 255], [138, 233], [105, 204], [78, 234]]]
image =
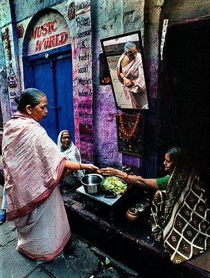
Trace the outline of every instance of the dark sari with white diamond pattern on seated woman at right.
[[166, 191], [158, 190], [150, 220], [155, 240], [164, 240], [173, 263], [191, 259], [209, 245], [207, 197], [200, 177], [187, 161], [178, 163]]

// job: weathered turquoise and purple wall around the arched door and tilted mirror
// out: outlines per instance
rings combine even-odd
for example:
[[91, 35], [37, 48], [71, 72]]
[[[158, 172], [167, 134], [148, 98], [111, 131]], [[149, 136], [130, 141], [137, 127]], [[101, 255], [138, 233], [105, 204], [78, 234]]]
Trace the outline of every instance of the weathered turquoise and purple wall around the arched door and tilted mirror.
[[[2, 0], [1, 32], [8, 27], [12, 32], [12, 19], [8, 1]], [[87, 13], [80, 6], [87, 1], [75, 1], [77, 17], [69, 15], [69, 5], [73, 1], [12, 1], [15, 7], [15, 20], [17, 27], [27, 30], [33, 16], [45, 8], [57, 10], [66, 20], [71, 34], [71, 46], [73, 54], [73, 94], [74, 117], [76, 125], [76, 145], [78, 145], [85, 161], [95, 161], [100, 166], [110, 165], [121, 167], [122, 164], [130, 165], [136, 172], [141, 170], [144, 177], [154, 177], [158, 154], [158, 98], [159, 98], [159, 38], [163, 19], [176, 22], [193, 17], [209, 15], [210, 3], [207, 0], [198, 1], [164, 1], [164, 0], [92, 0], [90, 10]], [[90, 2], [89, 2], [90, 3]], [[83, 21], [83, 19], [85, 21]], [[89, 18], [89, 19], [87, 19]], [[80, 24], [87, 22], [88, 24]], [[121, 35], [130, 31], [141, 30], [143, 49], [146, 61], [146, 74], [148, 79], [148, 99], [150, 110], [143, 113], [143, 133], [146, 138], [143, 158], [122, 155], [117, 151], [116, 121], [115, 115], [121, 113], [116, 109], [114, 97], [110, 85], [102, 86], [99, 78], [99, 54], [102, 53], [100, 40], [113, 35]], [[88, 33], [91, 31], [91, 34]], [[85, 33], [84, 33], [85, 32]], [[14, 29], [13, 29], [14, 33]], [[12, 34], [11, 34], [12, 38]], [[12, 38], [12, 42], [15, 40]], [[5, 43], [5, 42], [3, 42]], [[6, 56], [1, 42], [1, 54]], [[21, 55], [24, 47], [24, 37], [18, 39], [18, 45], [12, 45], [12, 56], [17, 54], [14, 61], [14, 75], [19, 78], [19, 83], [24, 88]], [[82, 57], [88, 58], [87, 60]], [[18, 63], [17, 63], [18, 61]], [[13, 60], [12, 60], [13, 62]], [[13, 64], [12, 64], [13, 65]], [[20, 72], [18, 72], [18, 66]], [[8, 120], [11, 111], [8, 108], [8, 62], [0, 61], [1, 70], [1, 102], [3, 102], [4, 120]], [[14, 77], [14, 76], [13, 76]], [[3, 79], [2, 79], [3, 78]], [[80, 78], [80, 83], [79, 83]], [[89, 82], [85, 82], [88, 80]], [[90, 83], [91, 80], [91, 83]], [[89, 83], [89, 84], [87, 84]], [[12, 89], [13, 90], [13, 89]], [[19, 89], [18, 89], [19, 91]], [[87, 97], [88, 95], [88, 97]], [[90, 101], [94, 101], [93, 105]], [[129, 112], [129, 111], [128, 111]], [[92, 115], [92, 116], [90, 116]], [[91, 118], [91, 122], [89, 122]], [[84, 119], [86, 118], [87, 121]], [[84, 121], [83, 121], [84, 120]], [[91, 127], [90, 127], [91, 126]], [[94, 136], [94, 149], [85, 145], [80, 140], [82, 132], [87, 127], [89, 134]], [[83, 134], [84, 135], [84, 134]], [[90, 154], [87, 157], [87, 150]], [[94, 156], [94, 157], [93, 157]]]

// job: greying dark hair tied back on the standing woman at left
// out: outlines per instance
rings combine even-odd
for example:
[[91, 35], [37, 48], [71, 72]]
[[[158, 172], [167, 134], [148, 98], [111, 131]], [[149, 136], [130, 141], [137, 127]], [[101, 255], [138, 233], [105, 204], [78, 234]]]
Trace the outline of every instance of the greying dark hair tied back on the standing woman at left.
[[15, 97], [15, 102], [18, 104], [17, 110], [19, 112], [26, 113], [26, 106], [30, 105], [31, 108], [34, 108], [42, 101], [42, 98], [46, 95], [44, 92], [37, 90], [35, 88], [28, 88]]

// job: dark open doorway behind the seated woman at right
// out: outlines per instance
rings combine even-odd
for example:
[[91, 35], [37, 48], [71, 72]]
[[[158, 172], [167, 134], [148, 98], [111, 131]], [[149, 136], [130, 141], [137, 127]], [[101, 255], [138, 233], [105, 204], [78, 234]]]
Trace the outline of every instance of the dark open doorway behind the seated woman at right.
[[170, 26], [164, 49], [161, 149], [184, 147], [210, 181], [210, 20]]

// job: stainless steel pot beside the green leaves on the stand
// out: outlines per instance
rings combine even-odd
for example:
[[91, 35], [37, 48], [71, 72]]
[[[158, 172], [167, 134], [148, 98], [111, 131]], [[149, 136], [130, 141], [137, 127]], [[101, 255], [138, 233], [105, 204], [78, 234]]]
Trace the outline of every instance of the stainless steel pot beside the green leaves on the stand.
[[100, 183], [103, 183], [105, 178], [100, 174], [86, 174], [81, 179], [85, 192], [89, 194], [96, 194], [100, 190]]

